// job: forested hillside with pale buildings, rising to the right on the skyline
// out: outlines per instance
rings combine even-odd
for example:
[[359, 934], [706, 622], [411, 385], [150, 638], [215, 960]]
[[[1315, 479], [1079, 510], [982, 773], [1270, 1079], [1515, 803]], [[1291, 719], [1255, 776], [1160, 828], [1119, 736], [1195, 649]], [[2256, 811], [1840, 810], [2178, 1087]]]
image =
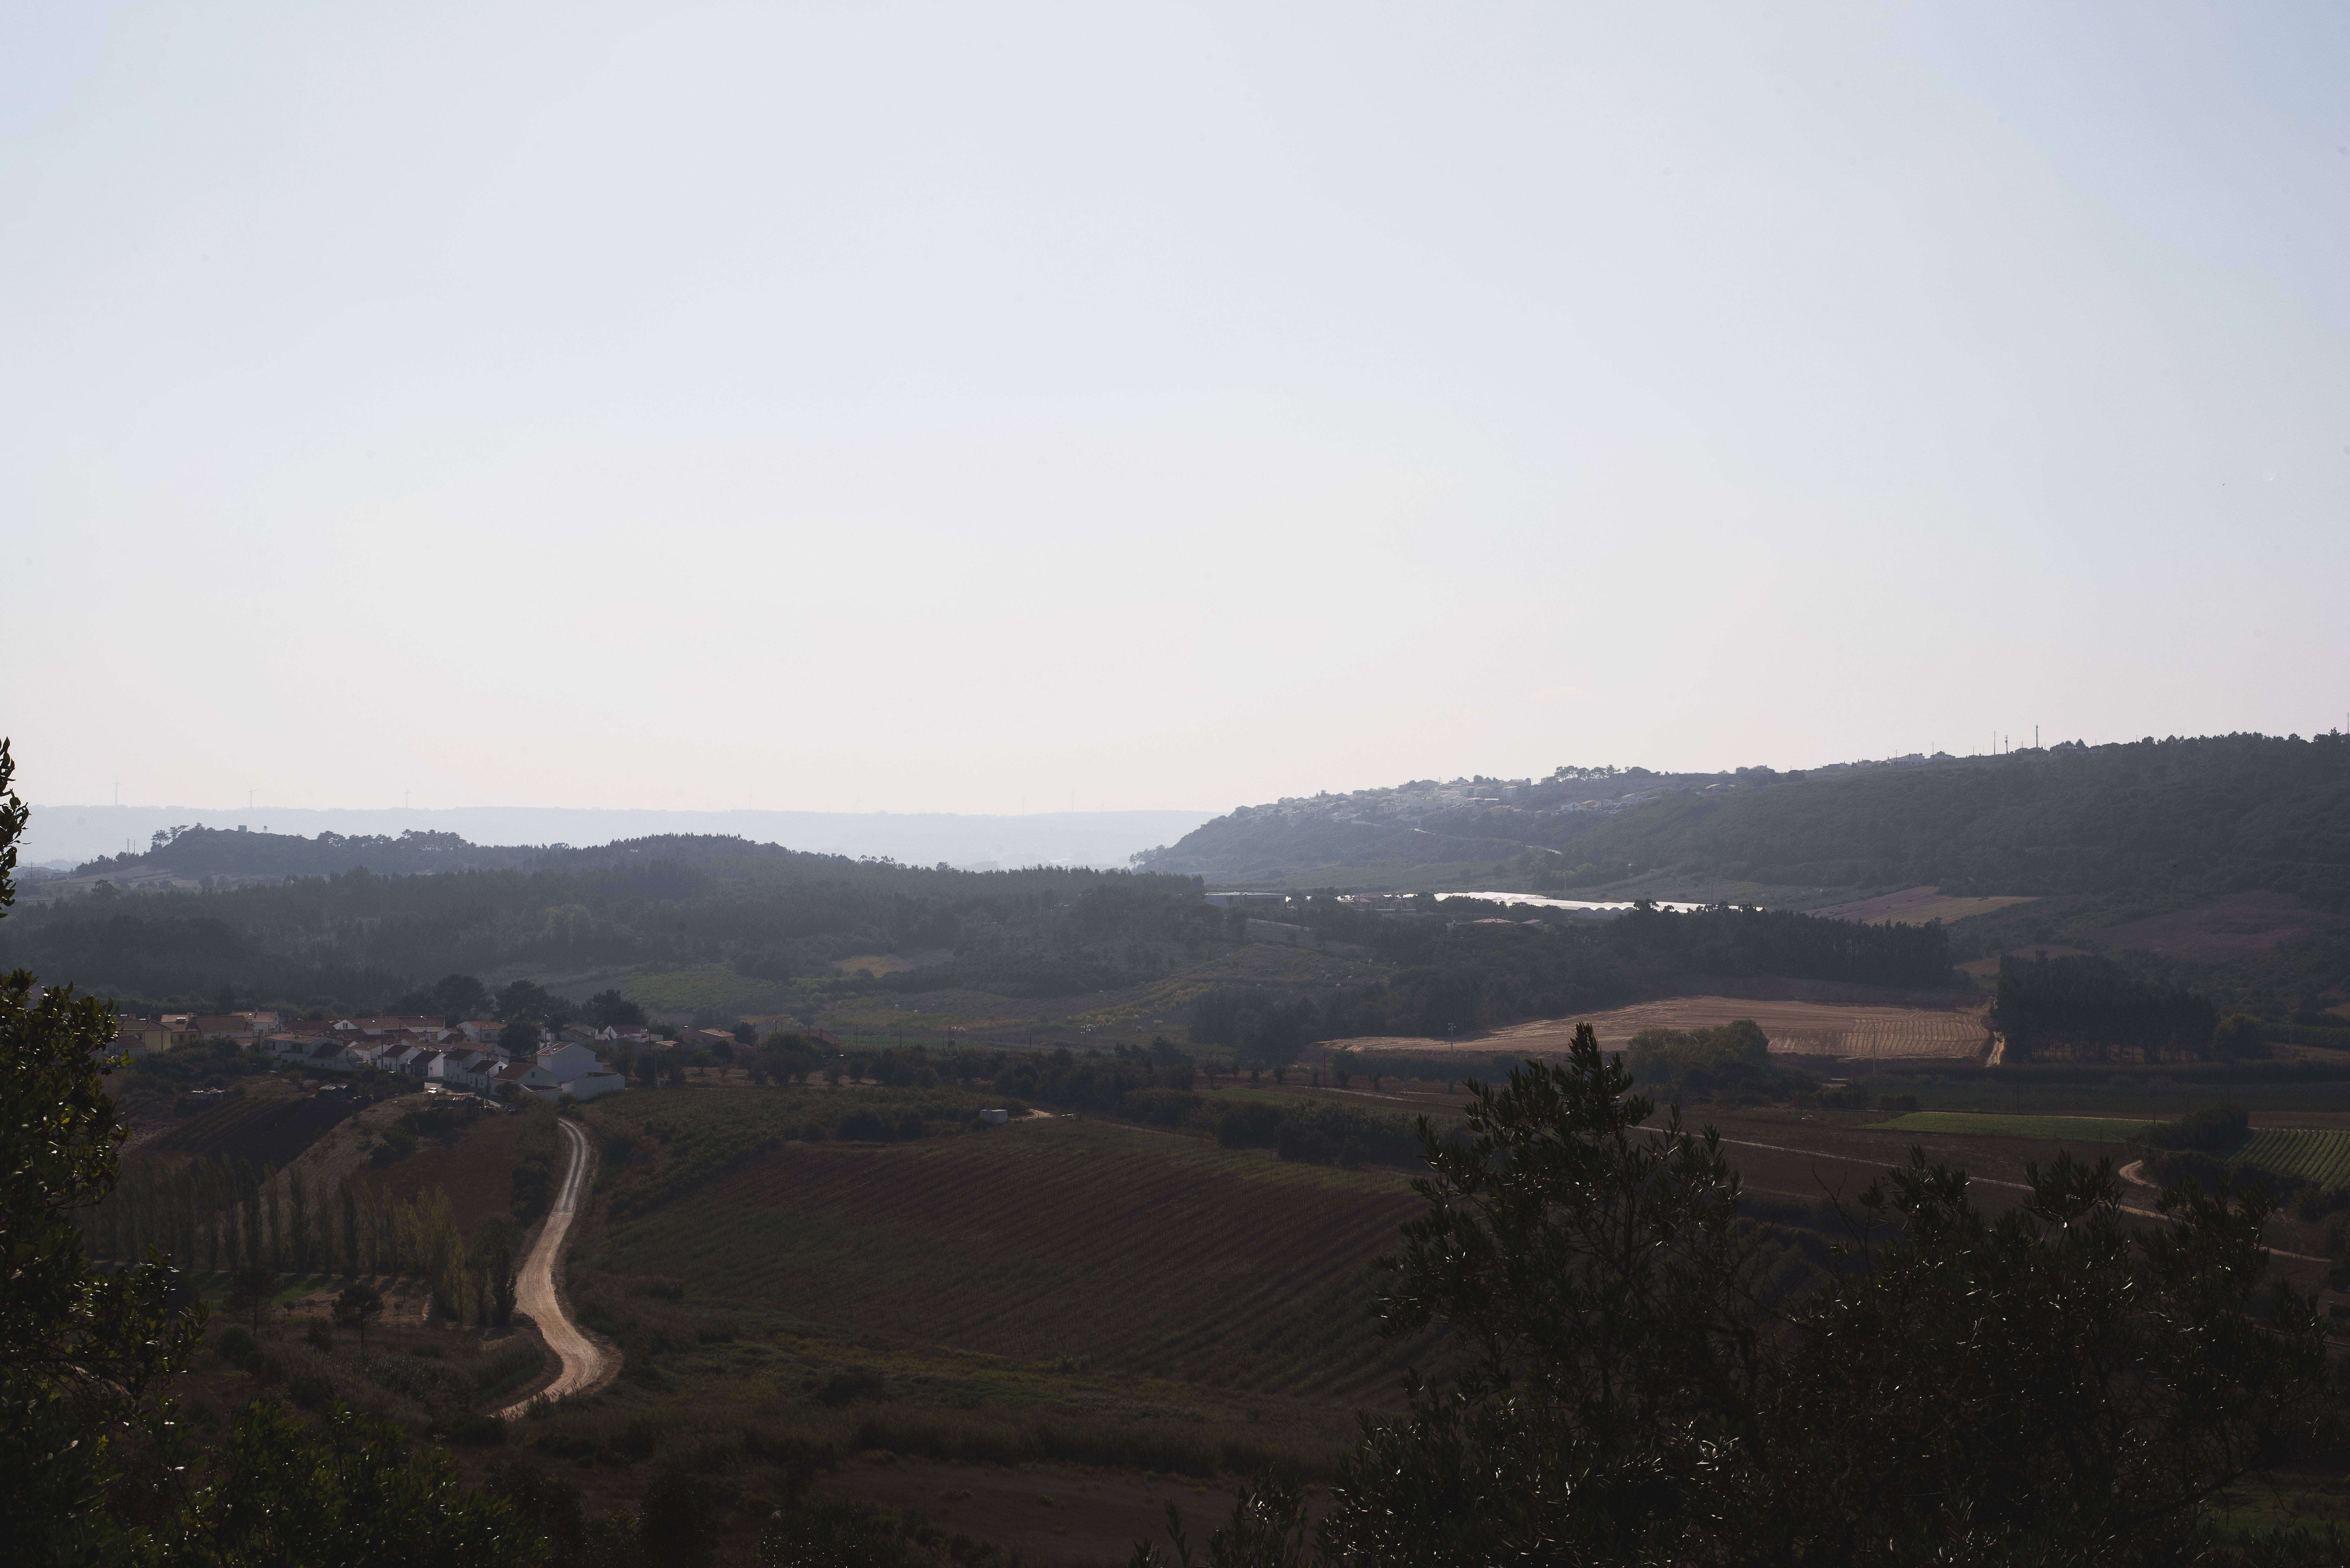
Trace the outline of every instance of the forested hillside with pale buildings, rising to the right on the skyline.
[[1229, 886], [1394, 886], [1417, 872], [1419, 886], [1506, 877], [1499, 886], [1605, 893], [1685, 872], [1791, 891], [2277, 889], [2350, 907], [2350, 736], [2066, 743], [1838, 776], [1657, 780], [1622, 809], [1551, 804], [1586, 790], [1370, 820], [1316, 802], [1248, 809], [1147, 865]]

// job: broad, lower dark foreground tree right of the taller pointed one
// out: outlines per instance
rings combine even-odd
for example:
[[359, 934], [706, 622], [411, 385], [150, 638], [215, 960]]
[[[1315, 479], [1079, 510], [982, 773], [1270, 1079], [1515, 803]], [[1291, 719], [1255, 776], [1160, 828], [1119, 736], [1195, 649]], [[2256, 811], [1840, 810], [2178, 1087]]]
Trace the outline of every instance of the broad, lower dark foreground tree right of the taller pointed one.
[[2028, 1178], [1998, 1220], [1918, 1152], [1861, 1194], [1894, 1237], [1798, 1314], [1767, 1410], [1788, 1561], [2204, 1561], [2204, 1505], [2329, 1432], [2312, 1305], [2256, 1307], [2265, 1197], [2183, 1182], [2143, 1232], [2110, 1161]]

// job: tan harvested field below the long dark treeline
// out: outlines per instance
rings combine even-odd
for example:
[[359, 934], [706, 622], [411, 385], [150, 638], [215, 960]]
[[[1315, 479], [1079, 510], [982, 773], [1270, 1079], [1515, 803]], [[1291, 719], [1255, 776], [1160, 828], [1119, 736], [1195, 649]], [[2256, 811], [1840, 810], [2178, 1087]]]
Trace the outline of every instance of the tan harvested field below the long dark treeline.
[[[1983, 1004], [1976, 1006], [1892, 1006], [1840, 1001], [1770, 1001], [1755, 997], [1673, 997], [1640, 1001], [1589, 1018], [1542, 1018], [1480, 1034], [1462, 1046], [1480, 1056], [1565, 1056], [1574, 1044], [1574, 1025], [1589, 1023], [1610, 1051], [1624, 1048], [1640, 1030], [1711, 1030], [1737, 1018], [1751, 1018], [1770, 1048], [1786, 1056], [1840, 1056], [1845, 1060], [1941, 1058], [1969, 1060], [1983, 1053]], [[1431, 1041], [1403, 1037], [1335, 1039], [1356, 1051], [1419, 1051]]]

